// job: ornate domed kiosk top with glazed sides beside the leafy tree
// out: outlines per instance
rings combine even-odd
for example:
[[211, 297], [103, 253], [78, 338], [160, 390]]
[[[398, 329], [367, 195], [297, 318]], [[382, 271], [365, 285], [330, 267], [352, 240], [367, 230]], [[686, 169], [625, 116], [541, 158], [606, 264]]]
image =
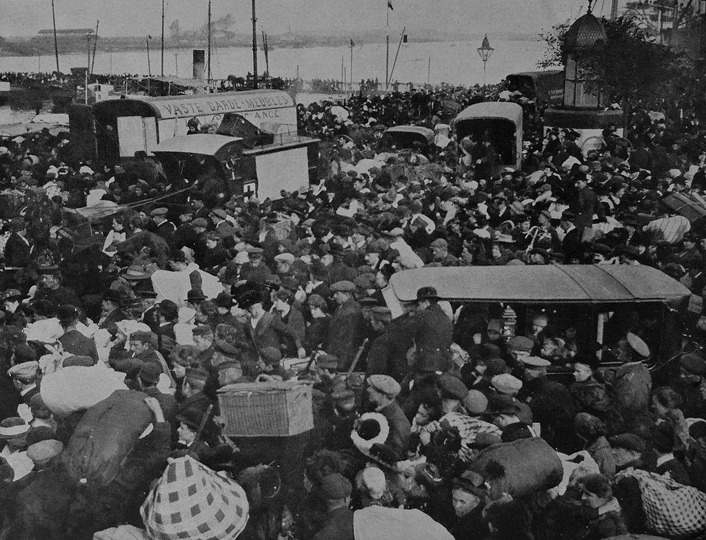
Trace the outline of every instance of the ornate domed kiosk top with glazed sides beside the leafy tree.
[[605, 42], [606, 30], [592, 13], [575, 20], [568, 29], [564, 41], [566, 68], [564, 70], [564, 102], [563, 106], [575, 109], [602, 109], [606, 97], [601, 90], [587, 90], [587, 80], [582, 75], [581, 66], [575, 54], [582, 49], [589, 49], [598, 42]]

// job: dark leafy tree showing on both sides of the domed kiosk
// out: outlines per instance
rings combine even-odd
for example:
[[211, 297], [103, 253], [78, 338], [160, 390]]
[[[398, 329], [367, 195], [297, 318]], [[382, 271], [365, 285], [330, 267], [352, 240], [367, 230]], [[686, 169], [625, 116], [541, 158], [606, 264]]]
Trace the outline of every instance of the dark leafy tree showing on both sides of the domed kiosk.
[[[573, 51], [582, 78], [590, 81], [587, 90], [600, 89], [611, 96], [623, 109], [626, 121], [638, 107], [665, 112], [678, 109], [678, 99], [687, 99], [686, 89], [693, 87], [695, 78], [686, 54], [656, 43], [633, 18], [600, 20], [606, 41]], [[546, 49], [539, 66], [564, 63], [566, 30], [568, 27], [561, 25], [542, 35]]]

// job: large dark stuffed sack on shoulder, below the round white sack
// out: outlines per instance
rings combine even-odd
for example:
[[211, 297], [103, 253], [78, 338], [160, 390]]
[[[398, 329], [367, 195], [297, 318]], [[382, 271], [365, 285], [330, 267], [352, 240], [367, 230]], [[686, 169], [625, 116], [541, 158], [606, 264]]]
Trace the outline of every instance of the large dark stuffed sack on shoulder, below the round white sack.
[[90, 407], [61, 453], [74, 481], [107, 486], [120, 473], [135, 443], [152, 422], [146, 394], [117, 390]]

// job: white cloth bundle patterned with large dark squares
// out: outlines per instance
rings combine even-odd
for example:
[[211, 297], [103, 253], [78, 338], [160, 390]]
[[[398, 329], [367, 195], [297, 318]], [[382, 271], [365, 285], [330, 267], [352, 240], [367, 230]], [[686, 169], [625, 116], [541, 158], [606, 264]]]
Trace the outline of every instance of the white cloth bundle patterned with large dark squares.
[[248, 508], [241, 486], [186, 455], [167, 465], [140, 514], [154, 540], [233, 540]]

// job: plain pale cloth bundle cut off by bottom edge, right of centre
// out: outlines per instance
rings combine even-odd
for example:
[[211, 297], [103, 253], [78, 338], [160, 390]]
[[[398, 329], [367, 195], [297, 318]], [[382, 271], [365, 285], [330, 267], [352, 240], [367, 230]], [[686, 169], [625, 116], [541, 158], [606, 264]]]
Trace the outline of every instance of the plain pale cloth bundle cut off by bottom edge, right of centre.
[[355, 540], [453, 540], [441, 524], [421, 510], [369, 506], [353, 513]]

